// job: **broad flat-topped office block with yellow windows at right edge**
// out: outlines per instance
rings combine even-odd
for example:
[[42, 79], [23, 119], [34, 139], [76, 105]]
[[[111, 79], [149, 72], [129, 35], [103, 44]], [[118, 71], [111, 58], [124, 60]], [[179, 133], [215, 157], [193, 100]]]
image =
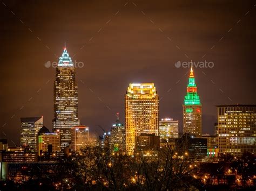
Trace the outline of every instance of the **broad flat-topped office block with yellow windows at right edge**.
[[256, 105], [218, 105], [220, 153], [256, 152]]

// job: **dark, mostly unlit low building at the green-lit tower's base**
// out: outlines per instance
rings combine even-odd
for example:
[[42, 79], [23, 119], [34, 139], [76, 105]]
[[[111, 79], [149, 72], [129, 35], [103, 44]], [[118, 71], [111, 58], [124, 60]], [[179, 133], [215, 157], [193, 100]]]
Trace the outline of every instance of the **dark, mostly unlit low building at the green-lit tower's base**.
[[181, 138], [176, 139], [176, 151], [179, 155], [187, 155], [190, 158], [200, 158], [207, 155], [207, 139], [197, 138], [185, 133]]

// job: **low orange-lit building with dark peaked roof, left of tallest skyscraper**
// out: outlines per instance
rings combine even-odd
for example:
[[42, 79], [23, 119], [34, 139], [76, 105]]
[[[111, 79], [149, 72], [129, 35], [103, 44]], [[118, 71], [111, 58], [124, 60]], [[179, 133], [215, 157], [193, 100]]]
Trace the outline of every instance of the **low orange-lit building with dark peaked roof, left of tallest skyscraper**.
[[49, 152], [57, 155], [60, 152], [60, 135], [59, 131], [50, 132], [45, 126], [38, 132], [38, 155]]

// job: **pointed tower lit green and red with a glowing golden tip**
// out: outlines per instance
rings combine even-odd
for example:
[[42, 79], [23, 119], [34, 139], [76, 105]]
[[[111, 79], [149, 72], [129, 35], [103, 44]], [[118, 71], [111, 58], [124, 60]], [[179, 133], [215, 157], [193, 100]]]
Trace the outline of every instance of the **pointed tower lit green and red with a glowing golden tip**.
[[183, 133], [191, 133], [196, 137], [202, 135], [202, 105], [194, 82], [192, 66], [183, 105]]

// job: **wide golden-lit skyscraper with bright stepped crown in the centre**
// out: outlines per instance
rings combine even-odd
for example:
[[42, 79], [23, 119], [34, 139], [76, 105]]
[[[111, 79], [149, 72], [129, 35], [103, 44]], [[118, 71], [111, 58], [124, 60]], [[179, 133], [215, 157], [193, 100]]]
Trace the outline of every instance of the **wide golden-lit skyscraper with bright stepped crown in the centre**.
[[159, 100], [154, 83], [130, 83], [125, 95], [126, 152], [133, 155], [137, 136], [159, 135]]

